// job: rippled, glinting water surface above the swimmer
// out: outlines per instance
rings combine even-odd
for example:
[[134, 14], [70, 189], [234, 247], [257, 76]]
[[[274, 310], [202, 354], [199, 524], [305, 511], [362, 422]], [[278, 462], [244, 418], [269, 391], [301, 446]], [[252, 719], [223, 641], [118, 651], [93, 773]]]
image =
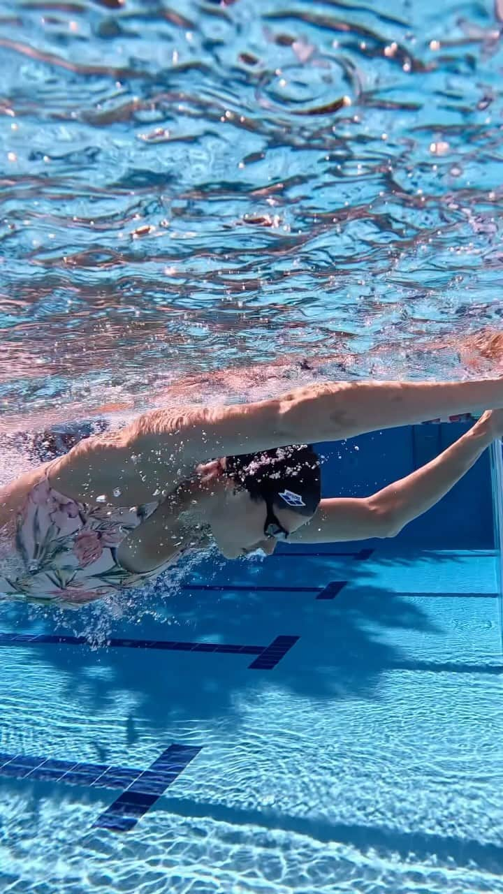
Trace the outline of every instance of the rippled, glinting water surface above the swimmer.
[[278, 359], [461, 375], [439, 345], [501, 316], [502, 20], [3, 0], [5, 423]]

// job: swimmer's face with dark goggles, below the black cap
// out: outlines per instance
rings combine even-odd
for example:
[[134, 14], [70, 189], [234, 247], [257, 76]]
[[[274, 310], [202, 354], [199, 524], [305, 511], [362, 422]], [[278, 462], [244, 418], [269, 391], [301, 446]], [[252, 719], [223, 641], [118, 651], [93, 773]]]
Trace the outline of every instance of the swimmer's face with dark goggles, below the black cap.
[[[267, 514], [264, 500], [252, 500], [250, 493], [242, 488], [226, 488], [225, 499], [211, 518], [211, 531], [222, 555], [226, 559], [238, 559], [259, 549], [267, 555], [274, 552], [277, 537], [264, 534]], [[310, 521], [309, 516], [276, 505], [274, 514], [289, 534]]]

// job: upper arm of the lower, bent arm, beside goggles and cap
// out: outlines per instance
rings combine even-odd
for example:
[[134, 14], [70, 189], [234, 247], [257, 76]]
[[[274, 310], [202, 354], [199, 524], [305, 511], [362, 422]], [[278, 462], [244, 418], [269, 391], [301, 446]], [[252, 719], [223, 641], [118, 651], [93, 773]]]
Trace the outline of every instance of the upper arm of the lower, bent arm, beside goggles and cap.
[[396, 534], [388, 511], [372, 497], [322, 500], [312, 519], [288, 537], [292, 544], [332, 544]]

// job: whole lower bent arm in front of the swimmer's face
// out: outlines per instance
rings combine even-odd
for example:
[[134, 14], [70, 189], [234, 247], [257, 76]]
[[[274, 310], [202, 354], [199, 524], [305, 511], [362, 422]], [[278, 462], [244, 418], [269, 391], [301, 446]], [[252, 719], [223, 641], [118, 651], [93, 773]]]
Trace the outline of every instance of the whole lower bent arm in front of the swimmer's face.
[[396, 536], [439, 502], [501, 435], [501, 414], [501, 410], [484, 413], [434, 460], [370, 497], [322, 500], [313, 519], [295, 531], [289, 541], [316, 544]]

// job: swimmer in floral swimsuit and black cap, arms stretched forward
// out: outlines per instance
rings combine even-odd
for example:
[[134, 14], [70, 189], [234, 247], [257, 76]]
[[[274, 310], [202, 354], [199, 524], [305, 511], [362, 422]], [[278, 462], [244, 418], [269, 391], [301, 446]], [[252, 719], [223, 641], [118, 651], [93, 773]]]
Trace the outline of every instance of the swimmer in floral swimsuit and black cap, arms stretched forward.
[[[328, 382], [248, 404], [151, 409], [0, 490], [0, 594], [78, 606], [141, 586], [187, 550], [392, 537], [503, 434], [503, 378]], [[487, 410], [487, 407], [497, 408]], [[473, 413], [427, 465], [364, 498], [320, 499], [311, 443]]]

